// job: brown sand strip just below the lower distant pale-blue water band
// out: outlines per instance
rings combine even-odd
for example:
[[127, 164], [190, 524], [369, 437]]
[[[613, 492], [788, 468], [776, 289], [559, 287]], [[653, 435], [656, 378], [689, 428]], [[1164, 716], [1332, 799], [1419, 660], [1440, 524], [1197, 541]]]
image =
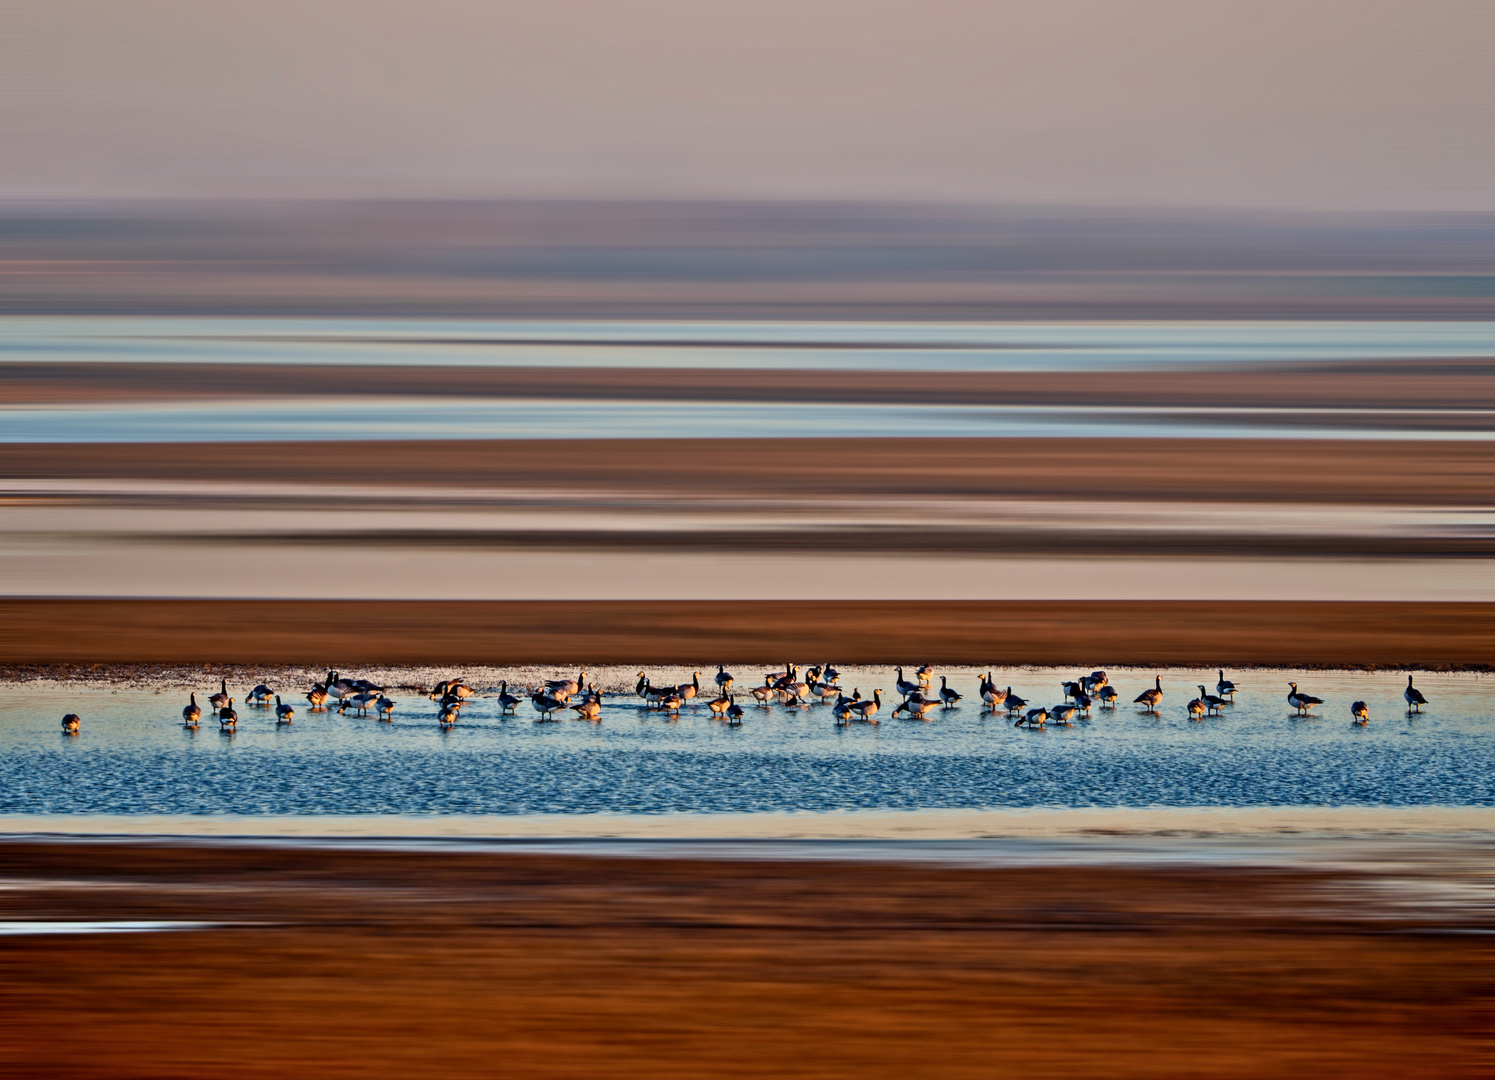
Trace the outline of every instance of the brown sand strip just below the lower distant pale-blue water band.
[[1495, 443], [599, 438], [0, 444], [0, 477], [489, 486], [722, 498], [1495, 503]]

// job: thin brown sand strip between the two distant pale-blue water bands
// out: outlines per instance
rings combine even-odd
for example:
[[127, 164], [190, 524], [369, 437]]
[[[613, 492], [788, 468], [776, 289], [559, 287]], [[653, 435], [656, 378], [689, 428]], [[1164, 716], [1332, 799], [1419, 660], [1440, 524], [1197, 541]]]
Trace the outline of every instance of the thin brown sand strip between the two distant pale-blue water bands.
[[[451, 343], [428, 343], [432, 349]], [[460, 343], [459, 343], [460, 344]], [[712, 346], [719, 349], [721, 346]], [[767, 350], [765, 350], [767, 352]], [[1495, 408], [1495, 360], [1360, 362], [1224, 371], [803, 371], [614, 366], [0, 363], [0, 399], [73, 405], [236, 396], [607, 401]]]

